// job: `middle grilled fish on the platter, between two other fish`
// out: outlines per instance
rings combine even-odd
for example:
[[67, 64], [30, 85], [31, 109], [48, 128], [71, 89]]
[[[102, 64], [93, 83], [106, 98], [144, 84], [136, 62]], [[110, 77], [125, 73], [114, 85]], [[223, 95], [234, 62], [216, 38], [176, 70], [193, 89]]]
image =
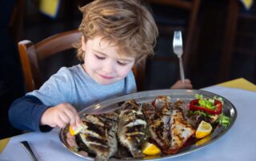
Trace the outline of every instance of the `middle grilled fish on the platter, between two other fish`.
[[127, 100], [118, 116], [118, 139], [127, 147], [134, 158], [143, 157], [141, 148], [148, 138], [146, 120], [142, 114], [142, 107], [134, 100]]

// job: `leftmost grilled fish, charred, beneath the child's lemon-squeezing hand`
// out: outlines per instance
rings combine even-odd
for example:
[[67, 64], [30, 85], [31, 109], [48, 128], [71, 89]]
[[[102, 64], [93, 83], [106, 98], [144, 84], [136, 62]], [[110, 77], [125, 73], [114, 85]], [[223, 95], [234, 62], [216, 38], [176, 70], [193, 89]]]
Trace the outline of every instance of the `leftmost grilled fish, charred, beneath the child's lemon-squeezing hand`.
[[[108, 160], [118, 149], [116, 137], [118, 114], [115, 112], [85, 115], [82, 123], [86, 129], [79, 135], [79, 147], [96, 155], [95, 160]], [[82, 142], [82, 143], [81, 143]]]

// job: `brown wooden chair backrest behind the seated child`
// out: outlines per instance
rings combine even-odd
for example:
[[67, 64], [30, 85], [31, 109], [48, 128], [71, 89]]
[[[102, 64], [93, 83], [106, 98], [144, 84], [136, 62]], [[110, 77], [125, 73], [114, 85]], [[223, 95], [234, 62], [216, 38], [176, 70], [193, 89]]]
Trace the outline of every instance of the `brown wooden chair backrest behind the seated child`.
[[[81, 38], [78, 30], [70, 30], [55, 34], [34, 44], [24, 40], [18, 42], [18, 52], [22, 63], [22, 72], [26, 84], [26, 92], [38, 89], [43, 84], [39, 62], [67, 49], [73, 49], [73, 45]], [[133, 72], [138, 91], [143, 88], [146, 61], [134, 65]]]

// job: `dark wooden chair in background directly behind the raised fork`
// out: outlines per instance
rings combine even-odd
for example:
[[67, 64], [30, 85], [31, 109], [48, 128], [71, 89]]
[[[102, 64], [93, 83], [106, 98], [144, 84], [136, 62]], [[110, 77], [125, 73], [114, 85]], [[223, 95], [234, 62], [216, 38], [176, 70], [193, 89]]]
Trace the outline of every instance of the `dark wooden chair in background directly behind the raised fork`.
[[[170, 35], [173, 36], [174, 30], [183, 30], [185, 34], [183, 34], [183, 41], [184, 47], [183, 47], [183, 65], [184, 69], [189, 69], [189, 61], [191, 61], [192, 57], [192, 50], [194, 50], [195, 44], [195, 30], [196, 30], [196, 24], [198, 21], [198, 11], [201, 4], [201, 0], [147, 0], [151, 5], [160, 5], [169, 7], [170, 10], [172, 8], [177, 10], [182, 10], [185, 12], [186, 15], [188, 15], [187, 20], [185, 24], [181, 24], [182, 22], [178, 20], [178, 23], [175, 24], [175, 22], [168, 22], [168, 19], [165, 20], [165, 22], [160, 22], [158, 24], [159, 33], [161, 36], [161, 33], [163, 36]], [[160, 8], [161, 9], [161, 8]], [[153, 10], [154, 12], [154, 10]], [[162, 12], [162, 10], [161, 10]], [[166, 23], [166, 24], [165, 24]], [[171, 32], [171, 33], [170, 33]], [[172, 37], [171, 37], [172, 39]], [[171, 45], [171, 41], [170, 41]], [[177, 57], [169, 57], [169, 56], [156, 56], [154, 57], [154, 61], [168, 61], [168, 62], [178, 62]]]

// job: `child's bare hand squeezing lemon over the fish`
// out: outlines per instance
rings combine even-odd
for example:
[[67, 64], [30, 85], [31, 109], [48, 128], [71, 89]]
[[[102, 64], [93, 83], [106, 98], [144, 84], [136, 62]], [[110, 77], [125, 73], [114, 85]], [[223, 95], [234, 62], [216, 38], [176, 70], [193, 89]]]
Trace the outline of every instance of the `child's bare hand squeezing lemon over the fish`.
[[46, 109], [41, 117], [42, 125], [50, 127], [65, 128], [70, 124], [73, 128], [77, 128], [82, 124], [78, 112], [68, 103], [58, 104], [57, 106]]

